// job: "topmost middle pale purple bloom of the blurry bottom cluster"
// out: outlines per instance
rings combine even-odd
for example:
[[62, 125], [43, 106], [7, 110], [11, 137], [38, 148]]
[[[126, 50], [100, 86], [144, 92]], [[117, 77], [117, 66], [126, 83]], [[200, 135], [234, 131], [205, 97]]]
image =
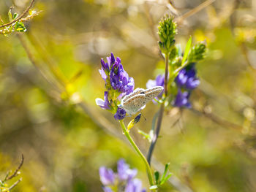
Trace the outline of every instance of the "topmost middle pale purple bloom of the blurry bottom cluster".
[[125, 163], [124, 159], [118, 161], [117, 172], [119, 180], [131, 180], [137, 174], [136, 169], [129, 169], [129, 165]]

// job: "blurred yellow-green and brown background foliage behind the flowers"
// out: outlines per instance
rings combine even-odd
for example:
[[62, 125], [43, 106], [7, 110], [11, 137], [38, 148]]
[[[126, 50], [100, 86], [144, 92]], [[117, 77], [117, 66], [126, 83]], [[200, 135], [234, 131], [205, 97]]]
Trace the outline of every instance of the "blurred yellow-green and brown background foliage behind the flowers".
[[[98, 69], [112, 52], [135, 88], [146, 88], [164, 65], [157, 25], [170, 14], [176, 42], [206, 39], [208, 53], [197, 64], [192, 109], [165, 113], [153, 166], [170, 162], [178, 184], [161, 191], [256, 191], [256, 1], [204, 2], [36, 0], [42, 12], [25, 23], [27, 32], [0, 36], [0, 179], [23, 154], [23, 181], [13, 191], [102, 191], [99, 166], [116, 169], [124, 158], [148, 187], [121, 127], [95, 104], [104, 94]], [[21, 13], [29, 0], [1, 0], [3, 20], [12, 5]], [[147, 104], [146, 120], [131, 131], [144, 153], [138, 128], [149, 131], [158, 109]]]

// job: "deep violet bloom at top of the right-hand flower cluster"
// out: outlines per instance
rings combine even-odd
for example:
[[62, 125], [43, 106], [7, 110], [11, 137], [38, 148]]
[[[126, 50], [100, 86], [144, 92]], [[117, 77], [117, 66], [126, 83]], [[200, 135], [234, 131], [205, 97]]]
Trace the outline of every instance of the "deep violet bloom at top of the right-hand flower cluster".
[[196, 77], [195, 64], [193, 63], [187, 68], [181, 69], [175, 79], [175, 82], [178, 87], [186, 88], [187, 90], [197, 88], [200, 84], [200, 80]]

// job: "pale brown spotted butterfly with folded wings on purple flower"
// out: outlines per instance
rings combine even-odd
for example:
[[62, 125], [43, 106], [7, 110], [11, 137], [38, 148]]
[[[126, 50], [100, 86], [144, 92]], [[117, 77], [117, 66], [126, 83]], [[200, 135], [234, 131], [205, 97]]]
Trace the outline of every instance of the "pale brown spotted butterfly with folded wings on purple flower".
[[121, 104], [118, 107], [123, 108], [129, 116], [134, 115], [140, 110], [143, 110], [148, 101], [157, 97], [163, 90], [164, 88], [162, 86], [148, 89], [136, 88], [135, 91], [121, 99]]

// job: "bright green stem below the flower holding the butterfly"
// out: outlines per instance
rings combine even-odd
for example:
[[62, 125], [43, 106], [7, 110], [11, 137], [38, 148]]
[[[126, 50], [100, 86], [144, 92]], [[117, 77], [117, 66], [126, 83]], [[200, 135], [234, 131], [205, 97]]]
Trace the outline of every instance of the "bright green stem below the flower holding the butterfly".
[[129, 142], [132, 144], [132, 147], [135, 149], [135, 151], [138, 153], [138, 155], [140, 156], [140, 158], [143, 160], [144, 164], [146, 165], [146, 169], [147, 169], [147, 174], [148, 174], [148, 181], [150, 183], [150, 185], [154, 185], [154, 181], [153, 181], [153, 176], [152, 176], [152, 172], [151, 172], [151, 168], [148, 164], [148, 161], [146, 160], [145, 156], [141, 153], [140, 149], [138, 148], [138, 146], [135, 144], [135, 142], [132, 140], [132, 137], [129, 135], [126, 126], [124, 125], [124, 121], [120, 120], [119, 121], [121, 128], [124, 131], [124, 135], [127, 137], [127, 139], [129, 140]]

